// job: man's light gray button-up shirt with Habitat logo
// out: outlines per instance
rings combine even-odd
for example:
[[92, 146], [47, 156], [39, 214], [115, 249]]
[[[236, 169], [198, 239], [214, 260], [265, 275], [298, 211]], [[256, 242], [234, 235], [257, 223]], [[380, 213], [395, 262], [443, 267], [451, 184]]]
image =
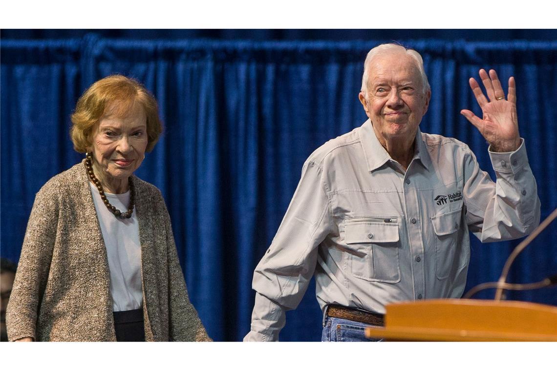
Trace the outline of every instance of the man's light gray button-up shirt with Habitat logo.
[[339, 304], [385, 313], [395, 301], [460, 298], [468, 230], [490, 242], [519, 238], [539, 224], [524, 140], [515, 152], [489, 154], [496, 183], [466, 144], [419, 129], [406, 171], [369, 120], [326, 142], [305, 162], [255, 269], [244, 340], [278, 340], [285, 310], [296, 308], [314, 274], [322, 310]]

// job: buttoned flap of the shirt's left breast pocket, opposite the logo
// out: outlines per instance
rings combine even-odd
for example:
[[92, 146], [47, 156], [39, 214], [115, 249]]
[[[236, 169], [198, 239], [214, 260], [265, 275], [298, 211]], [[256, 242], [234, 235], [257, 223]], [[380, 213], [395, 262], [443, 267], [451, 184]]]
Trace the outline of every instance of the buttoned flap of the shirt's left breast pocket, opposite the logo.
[[382, 243], [398, 241], [398, 224], [379, 221], [345, 221], [344, 241], [346, 244]]

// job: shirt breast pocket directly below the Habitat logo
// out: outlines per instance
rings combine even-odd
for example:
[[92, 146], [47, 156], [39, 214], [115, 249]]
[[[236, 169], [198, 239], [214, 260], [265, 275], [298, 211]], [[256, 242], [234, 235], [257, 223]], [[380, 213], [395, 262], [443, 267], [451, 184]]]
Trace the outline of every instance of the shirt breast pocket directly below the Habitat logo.
[[445, 212], [431, 217], [435, 236], [435, 275], [438, 279], [446, 279], [466, 265], [459, 249], [459, 230], [462, 222], [462, 209]]

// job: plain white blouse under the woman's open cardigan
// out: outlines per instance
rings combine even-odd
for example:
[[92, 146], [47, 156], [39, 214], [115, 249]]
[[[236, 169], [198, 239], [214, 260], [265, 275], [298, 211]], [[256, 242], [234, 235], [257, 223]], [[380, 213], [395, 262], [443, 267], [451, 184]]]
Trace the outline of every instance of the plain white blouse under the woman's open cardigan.
[[[143, 290], [139, 224], [135, 208], [129, 219], [120, 219], [102, 202], [99, 190], [91, 182], [89, 186], [108, 256], [113, 311], [139, 309], [143, 301]], [[128, 210], [130, 191], [123, 194], [105, 192], [105, 195], [116, 209], [122, 212]]]

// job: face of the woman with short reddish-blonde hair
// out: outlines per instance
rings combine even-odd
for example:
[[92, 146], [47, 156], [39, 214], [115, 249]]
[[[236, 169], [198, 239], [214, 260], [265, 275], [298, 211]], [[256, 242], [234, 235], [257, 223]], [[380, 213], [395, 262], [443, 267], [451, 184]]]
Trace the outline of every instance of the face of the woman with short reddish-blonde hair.
[[[109, 109], [108, 112], [117, 110]], [[124, 181], [138, 169], [147, 147], [147, 119], [141, 105], [134, 105], [123, 117], [105, 115], [93, 130], [89, 152], [96, 163], [101, 183]], [[110, 192], [110, 190], [107, 190]]]

